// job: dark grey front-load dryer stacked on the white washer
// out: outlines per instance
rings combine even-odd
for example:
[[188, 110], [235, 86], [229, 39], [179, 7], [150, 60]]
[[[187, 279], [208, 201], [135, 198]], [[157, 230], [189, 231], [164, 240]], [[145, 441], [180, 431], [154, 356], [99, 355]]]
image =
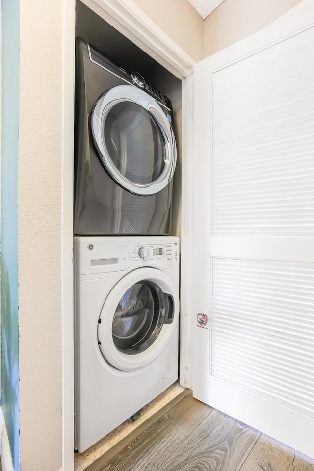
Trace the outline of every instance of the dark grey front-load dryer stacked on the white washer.
[[76, 42], [75, 235], [168, 235], [176, 142], [170, 100]]

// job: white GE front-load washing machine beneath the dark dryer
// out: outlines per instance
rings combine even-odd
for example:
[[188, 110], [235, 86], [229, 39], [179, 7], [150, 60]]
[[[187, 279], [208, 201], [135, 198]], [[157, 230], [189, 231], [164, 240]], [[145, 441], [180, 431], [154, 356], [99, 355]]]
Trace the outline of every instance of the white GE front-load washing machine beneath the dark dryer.
[[75, 448], [178, 378], [179, 239], [75, 237]]

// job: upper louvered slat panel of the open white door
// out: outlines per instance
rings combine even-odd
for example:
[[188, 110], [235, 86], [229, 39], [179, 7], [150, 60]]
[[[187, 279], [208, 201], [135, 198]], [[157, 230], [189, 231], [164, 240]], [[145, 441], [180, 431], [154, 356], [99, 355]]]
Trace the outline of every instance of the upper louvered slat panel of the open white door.
[[213, 73], [213, 235], [314, 234], [309, 44], [313, 29]]

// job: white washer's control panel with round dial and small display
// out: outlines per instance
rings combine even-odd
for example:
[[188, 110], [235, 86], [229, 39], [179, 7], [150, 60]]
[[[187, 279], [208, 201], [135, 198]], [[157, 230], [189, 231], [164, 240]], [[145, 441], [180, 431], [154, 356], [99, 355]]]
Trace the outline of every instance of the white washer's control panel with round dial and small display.
[[131, 248], [131, 258], [134, 261], [166, 259], [178, 260], [179, 247], [177, 242], [170, 244], [134, 244]]

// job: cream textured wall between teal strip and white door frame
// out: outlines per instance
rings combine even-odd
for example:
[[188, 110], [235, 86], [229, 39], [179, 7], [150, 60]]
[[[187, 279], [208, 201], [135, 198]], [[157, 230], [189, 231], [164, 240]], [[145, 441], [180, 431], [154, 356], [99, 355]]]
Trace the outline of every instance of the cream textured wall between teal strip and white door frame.
[[62, 3], [20, 0], [18, 247], [23, 471], [55, 471], [62, 464]]

